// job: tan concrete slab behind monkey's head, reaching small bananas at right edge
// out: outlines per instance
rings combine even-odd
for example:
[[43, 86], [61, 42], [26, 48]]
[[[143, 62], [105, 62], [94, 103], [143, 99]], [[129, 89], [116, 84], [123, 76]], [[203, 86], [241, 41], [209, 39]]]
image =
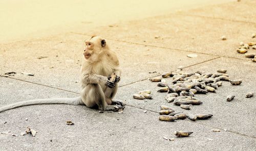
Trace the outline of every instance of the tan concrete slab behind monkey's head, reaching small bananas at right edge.
[[[142, 45], [249, 60], [236, 50], [241, 41], [253, 41], [251, 34], [255, 31], [256, 26], [251, 23], [169, 14], [118, 23], [91, 33]], [[223, 35], [227, 40], [221, 40]], [[253, 49], [248, 52], [255, 53]]]

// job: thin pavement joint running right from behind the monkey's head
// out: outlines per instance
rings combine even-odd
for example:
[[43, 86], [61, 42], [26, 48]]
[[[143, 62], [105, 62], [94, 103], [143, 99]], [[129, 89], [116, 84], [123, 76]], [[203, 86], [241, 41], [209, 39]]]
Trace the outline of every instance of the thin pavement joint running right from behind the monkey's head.
[[[77, 33], [77, 32], [70, 32], [70, 33], [71, 33], [71, 34], [77, 34], [77, 35], [89, 36], [89, 35], [87, 35], [87, 34], [82, 34], [82, 33]], [[89, 36], [89, 37], [90, 37], [90, 36]], [[203, 54], [203, 55], [209, 55], [209, 56], [218, 56], [218, 57], [225, 57], [225, 58], [230, 58], [230, 59], [238, 59], [238, 60], [248, 61], [248, 60], [246, 60], [246, 59], [241, 59], [241, 58], [236, 58], [236, 57], [221, 56], [221, 55], [208, 54], [208, 53], [200, 53], [200, 52], [195, 52], [195, 51], [186, 51], [186, 50], [183, 50], [183, 49], [170, 48], [170, 47], [163, 47], [163, 46], [156, 46], [156, 45], [150, 45], [150, 44], [144, 44], [144, 43], [138, 43], [138, 42], [132, 42], [132, 41], [117, 40], [117, 39], [112, 39], [112, 38], [106, 38], [106, 39], [113, 40], [113, 41], [119, 41], [119, 42], [130, 43], [130, 44], [137, 44], [137, 45], [145, 45], [145, 46], [151, 46], [151, 47], [157, 47], [157, 48], [170, 49], [170, 50], [180, 51], [180, 52], [197, 53], [197, 54]]]

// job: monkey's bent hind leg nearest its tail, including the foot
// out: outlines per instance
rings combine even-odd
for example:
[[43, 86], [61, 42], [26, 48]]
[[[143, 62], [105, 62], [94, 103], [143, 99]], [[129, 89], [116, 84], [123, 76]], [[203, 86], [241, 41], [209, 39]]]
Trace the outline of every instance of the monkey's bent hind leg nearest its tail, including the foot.
[[104, 92], [99, 84], [88, 84], [84, 87], [82, 101], [89, 108], [97, 105], [99, 110], [116, 111], [122, 108], [118, 105], [108, 105], [106, 103]]

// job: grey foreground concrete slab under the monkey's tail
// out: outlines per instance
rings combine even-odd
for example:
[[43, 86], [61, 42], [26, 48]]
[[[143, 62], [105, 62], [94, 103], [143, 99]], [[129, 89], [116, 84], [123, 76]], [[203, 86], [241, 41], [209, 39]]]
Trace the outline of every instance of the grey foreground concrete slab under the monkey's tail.
[[[8, 93], [0, 96], [1, 106], [17, 102], [17, 98], [46, 96], [74, 96], [76, 94], [1, 78]], [[13, 85], [10, 85], [13, 83]], [[14, 89], [14, 87], [16, 89]], [[26, 90], [16, 93], [17, 89]], [[1, 89], [3, 89], [1, 87]], [[1, 90], [2, 91], [2, 90]], [[40, 93], [38, 93], [40, 92]], [[11, 100], [11, 102], [10, 102]], [[155, 112], [126, 106], [122, 114], [98, 113], [85, 106], [36, 105], [16, 108], [0, 113], [1, 150], [254, 150], [255, 138], [221, 131], [188, 120], [164, 122]], [[28, 120], [25, 120], [28, 118]], [[71, 120], [75, 124], [67, 125]], [[212, 121], [210, 119], [209, 121]], [[37, 131], [19, 136], [26, 127]], [[176, 138], [174, 131], [193, 131], [190, 137]], [[9, 131], [9, 132], [8, 132]], [[16, 134], [18, 136], [11, 136]], [[165, 138], [175, 138], [174, 141]], [[237, 143], [239, 142], [239, 143]], [[192, 147], [193, 146], [193, 147]], [[218, 146], [218, 147], [216, 147]]]

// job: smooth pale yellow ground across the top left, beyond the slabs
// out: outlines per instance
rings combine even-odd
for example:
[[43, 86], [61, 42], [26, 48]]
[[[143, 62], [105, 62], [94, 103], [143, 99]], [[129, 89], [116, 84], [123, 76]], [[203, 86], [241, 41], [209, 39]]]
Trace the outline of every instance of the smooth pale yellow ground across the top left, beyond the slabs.
[[233, 0], [0, 1], [0, 43], [168, 14]]

